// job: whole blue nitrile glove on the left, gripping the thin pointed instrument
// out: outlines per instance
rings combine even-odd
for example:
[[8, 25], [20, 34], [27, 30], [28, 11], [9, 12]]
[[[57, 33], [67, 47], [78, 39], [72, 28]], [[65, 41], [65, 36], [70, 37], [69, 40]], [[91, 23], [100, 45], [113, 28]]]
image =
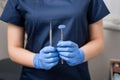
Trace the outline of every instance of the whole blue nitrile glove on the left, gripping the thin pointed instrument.
[[56, 48], [52, 46], [44, 47], [38, 54], [35, 54], [33, 64], [36, 69], [50, 70], [59, 62], [59, 55]]

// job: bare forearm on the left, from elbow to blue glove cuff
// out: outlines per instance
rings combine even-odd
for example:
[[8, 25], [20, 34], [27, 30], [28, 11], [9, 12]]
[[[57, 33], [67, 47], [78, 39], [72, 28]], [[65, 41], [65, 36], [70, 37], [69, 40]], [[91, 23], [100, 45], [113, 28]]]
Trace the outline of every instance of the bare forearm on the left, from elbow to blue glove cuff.
[[20, 47], [10, 48], [9, 50], [9, 56], [12, 61], [27, 67], [34, 67], [34, 55], [34, 53]]

